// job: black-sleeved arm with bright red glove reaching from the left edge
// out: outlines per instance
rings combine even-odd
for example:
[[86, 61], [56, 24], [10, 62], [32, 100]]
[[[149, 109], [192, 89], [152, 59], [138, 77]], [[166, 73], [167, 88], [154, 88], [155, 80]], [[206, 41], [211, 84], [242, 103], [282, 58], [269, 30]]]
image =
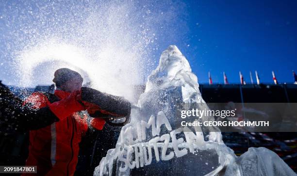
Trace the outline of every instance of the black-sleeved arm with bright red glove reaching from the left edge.
[[[15, 96], [9, 88], [0, 81], [0, 133], [15, 133], [44, 128], [71, 115], [73, 112], [84, 109], [84, 107], [76, 101], [73, 94], [48, 107], [33, 109], [30, 104], [23, 106], [23, 100]], [[67, 106], [69, 104], [76, 104], [77, 106], [72, 106], [72, 109], [67, 109], [67, 111], [64, 112], [64, 117], [55, 115], [55, 113], [58, 114], [57, 106]]]

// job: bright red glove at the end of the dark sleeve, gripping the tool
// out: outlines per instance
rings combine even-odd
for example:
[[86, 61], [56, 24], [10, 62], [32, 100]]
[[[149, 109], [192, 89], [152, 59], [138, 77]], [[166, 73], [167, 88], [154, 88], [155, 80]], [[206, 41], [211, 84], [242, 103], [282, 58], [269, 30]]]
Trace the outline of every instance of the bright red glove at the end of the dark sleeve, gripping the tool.
[[66, 98], [51, 103], [49, 109], [60, 119], [64, 119], [74, 112], [86, 110], [81, 102], [81, 91], [75, 91]]

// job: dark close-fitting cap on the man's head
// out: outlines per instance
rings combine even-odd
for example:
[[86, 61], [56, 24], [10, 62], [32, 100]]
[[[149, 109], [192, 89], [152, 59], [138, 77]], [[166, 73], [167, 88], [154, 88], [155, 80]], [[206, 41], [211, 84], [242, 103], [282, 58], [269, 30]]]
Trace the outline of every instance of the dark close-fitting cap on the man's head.
[[71, 80], [74, 78], [83, 80], [81, 74], [79, 74], [76, 71], [70, 70], [69, 68], [57, 69], [54, 73], [54, 76], [55, 78], [52, 81], [56, 84], [56, 87], [60, 87], [68, 80]]

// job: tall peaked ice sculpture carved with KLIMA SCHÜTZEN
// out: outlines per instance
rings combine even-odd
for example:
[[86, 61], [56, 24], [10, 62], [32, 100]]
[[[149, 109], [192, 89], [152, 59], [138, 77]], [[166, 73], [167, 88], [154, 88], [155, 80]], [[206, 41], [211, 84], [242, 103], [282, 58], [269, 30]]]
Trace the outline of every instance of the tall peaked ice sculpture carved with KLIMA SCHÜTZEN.
[[148, 76], [146, 90], [132, 108], [131, 122], [121, 129], [115, 149], [108, 150], [94, 175], [295, 175], [266, 148], [249, 148], [236, 157], [218, 129], [181, 128], [181, 110], [208, 109], [198, 86], [181, 51], [169, 46]]

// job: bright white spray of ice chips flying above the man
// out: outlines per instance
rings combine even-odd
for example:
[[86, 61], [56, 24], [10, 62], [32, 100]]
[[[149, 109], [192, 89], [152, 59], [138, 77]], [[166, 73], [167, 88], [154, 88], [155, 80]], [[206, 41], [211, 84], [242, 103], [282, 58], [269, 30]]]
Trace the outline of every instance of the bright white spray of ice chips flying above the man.
[[3, 76], [17, 86], [51, 84], [54, 71], [68, 67], [94, 88], [131, 99], [133, 86], [154, 66], [157, 41], [175, 36], [183, 6], [171, 0], [3, 2]]

